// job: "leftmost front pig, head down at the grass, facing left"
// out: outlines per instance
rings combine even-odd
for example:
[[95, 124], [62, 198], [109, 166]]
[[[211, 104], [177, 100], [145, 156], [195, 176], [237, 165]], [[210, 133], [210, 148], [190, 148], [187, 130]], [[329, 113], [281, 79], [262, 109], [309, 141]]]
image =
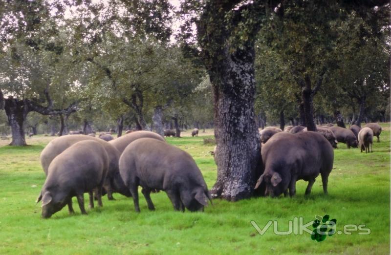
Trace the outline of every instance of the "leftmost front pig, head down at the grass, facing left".
[[95, 191], [102, 206], [102, 186], [109, 170], [109, 156], [98, 142], [84, 140], [65, 149], [50, 163], [38, 201], [42, 200], [42, 216], [49, 218], [77, 197], [80, 211], [84, 208], [84, 193], [89, 193], [89, 207], [94, 207]]

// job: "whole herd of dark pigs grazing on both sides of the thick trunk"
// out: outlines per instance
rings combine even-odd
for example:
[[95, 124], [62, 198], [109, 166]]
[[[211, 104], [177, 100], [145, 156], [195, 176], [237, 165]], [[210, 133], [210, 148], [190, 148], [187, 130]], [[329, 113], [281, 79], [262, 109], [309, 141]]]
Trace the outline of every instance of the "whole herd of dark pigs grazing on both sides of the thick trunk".
[[[77, 132], [77, 131], [76, 131]], [[371, 123], [364, 128], [318, 126], [317, 132], [305, 127], [266, 127], [261, 131], [263, 173], [255, 189], [271, 196], [294, 195], [296, 181], [308, 181], [309, 194], [315, 178], [321, 174], [324, 192], [334, 161], [333, 147], [346, 143], [369, 152], [373, 136], [381, 127]], [[193, 130], [192, 136], [198, 135]], [[189, 153], [166, 143], [150, 131], [127, 132], [114, 139], [108, 133], [83, 135], [72, 133], [53, 139], [42, 151], [40, 161], [46, 180], [38, 197], [42, 216], [49, 218], [66, 205], [73, 213], [72, 197], [86, 214], [84, 193], [89, 194], [89, 208], [94, 199], [102, 206], [102, 195], [115, 200], [114, 192], [132, 197], [134, 209], [140, 212], [138, 187], [141, 186], [149, 210], [154, 210], [151, 192], [165, 191], [176, 211], [203, 211], [211, 194], [201, 171]], [[111, 139], [112, 138], [112, 139]], [[372, 151], [372, 149], [371, 149]], [[215, 160], [218, 148], [214, 151]]]

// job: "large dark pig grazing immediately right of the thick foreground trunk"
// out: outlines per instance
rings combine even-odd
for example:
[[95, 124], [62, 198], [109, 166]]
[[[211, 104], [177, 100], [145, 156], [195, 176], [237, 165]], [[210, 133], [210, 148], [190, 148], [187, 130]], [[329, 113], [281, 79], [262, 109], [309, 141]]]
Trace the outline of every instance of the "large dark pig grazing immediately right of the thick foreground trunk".
[[264, 172], [255, 189], [266, 186], [265, 194], [273, 197], [296, 193], [296, 181], [308, 181], [305, 194], [311, 192], [315, 178], [322, 176], [327, 193], [328, 175], [333, 168], [334, 151], [326, 138], [312, 131], [275, 134], [261, 149]]

